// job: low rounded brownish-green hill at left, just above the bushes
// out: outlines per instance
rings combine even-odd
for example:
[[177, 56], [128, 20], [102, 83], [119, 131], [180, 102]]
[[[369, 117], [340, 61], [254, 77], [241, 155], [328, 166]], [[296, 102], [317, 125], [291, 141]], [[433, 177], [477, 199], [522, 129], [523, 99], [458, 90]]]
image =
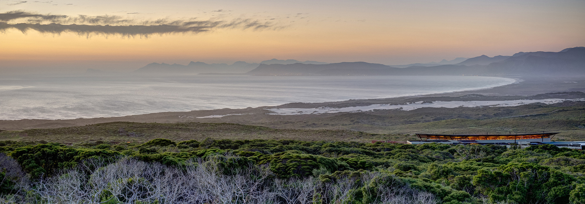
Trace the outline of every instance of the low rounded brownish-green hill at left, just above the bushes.
[[408, 135], [377, 134], [347, 130], [274, 129], [254, 125], [199, 122], [174, 124], [108, 122], [68, 128], [0, 132], [0, 140], [17, 140], [23, 142], [41, 140], [59, 143], [95, 142], [98, 140], [106, 142], [145, 142], [154, 138], [173, 140], [215, 138], [370, 142], [370, 140], [374, 139], [404, 139], [413, 137]]

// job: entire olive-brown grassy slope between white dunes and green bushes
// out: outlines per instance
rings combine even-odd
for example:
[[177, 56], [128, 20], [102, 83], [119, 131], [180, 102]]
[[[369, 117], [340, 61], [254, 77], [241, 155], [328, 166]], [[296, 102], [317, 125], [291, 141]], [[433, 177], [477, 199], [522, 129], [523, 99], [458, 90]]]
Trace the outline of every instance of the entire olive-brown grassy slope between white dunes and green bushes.
[[[154, 138], [295, 139], [369, 142], [415, 139], [414, 133], [560, 132], [554, 140], [585, 140], [585, 102], [517, 107], [419, 108], [412, 111], [226, 117], [218, 123], [106, 122], [54, 129], [2, 131], [0, 140], [77, 143], [144, 142]], [[226, 123], [232, 122], [232, 123]], [[245, 125], [241, 125], [245, 124]]]

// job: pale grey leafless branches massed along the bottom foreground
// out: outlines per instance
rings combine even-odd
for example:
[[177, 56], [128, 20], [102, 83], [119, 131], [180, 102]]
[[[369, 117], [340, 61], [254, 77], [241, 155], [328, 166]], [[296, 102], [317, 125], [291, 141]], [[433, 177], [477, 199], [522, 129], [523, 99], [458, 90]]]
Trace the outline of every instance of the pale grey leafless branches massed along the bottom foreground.
[[[380, 172], [364, 172], [326, 183], [314, 177], [278, 179], [269, 166], [253, 164], [226, 175], [220, 162], [196, 159], [171, 167], [128, 158], [115, 163], [86, 161], [78, 168], [22, 185], [19, 188], [28, 194], [0, 198], [0, 203], [349, 203], [355, 199], [355, 189], [388, 178]], [[393, 182], [386, 179], [366, 191], [376, 191], [370, 192], [378, 196], [376, 204], [437, 203], [428, 192]]]

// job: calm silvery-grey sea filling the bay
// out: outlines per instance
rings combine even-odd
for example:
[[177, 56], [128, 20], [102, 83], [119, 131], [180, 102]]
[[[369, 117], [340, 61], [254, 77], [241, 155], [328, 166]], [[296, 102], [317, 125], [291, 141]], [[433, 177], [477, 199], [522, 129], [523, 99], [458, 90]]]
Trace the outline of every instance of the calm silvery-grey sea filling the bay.
[[485, 89], [482, 76], [91, 76], [0, 79], [0, 119], [117, 117]]

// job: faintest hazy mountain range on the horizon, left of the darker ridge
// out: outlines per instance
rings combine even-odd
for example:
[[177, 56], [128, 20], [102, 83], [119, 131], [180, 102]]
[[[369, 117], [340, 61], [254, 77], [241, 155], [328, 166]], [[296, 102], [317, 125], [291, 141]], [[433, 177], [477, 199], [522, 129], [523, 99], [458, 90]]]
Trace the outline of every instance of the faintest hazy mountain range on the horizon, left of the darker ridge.
[[[297, 61], [294, 59], [279, 60], [270, 59], [260, 62], [260, 64], [271, 65], [271, 64], [328, 64], [326, 62], [316, 61]], [[258, 63], [247, 63], [244, 61], [234, 62], [231, 65], [228, 64], [207, 64], [205, 62], [190, 62], [188, 65], [180, 64], [159, 64], [151, 63], [143, 66], [140, 69], [134, 71], [138, 74], [156, 74], [156, 75], [176, 75], [176, 74], [197, 74], [197, 73], [244, 73], [249, 72], [254, 68], [257, 68]]]

